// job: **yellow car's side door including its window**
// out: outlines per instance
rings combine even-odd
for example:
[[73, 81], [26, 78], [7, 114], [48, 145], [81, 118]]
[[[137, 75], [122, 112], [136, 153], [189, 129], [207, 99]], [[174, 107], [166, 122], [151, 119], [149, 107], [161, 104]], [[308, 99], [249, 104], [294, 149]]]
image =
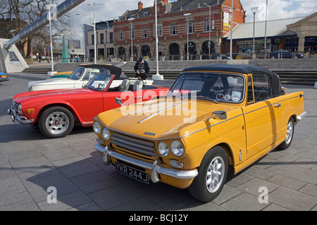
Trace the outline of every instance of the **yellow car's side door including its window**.
[[280, 139], [282, 103], [273, 98], [271, 80], [266, 73], [249, 76], [247, 106], [243, 108], [247, 136], [247, 158], [271, 146]]

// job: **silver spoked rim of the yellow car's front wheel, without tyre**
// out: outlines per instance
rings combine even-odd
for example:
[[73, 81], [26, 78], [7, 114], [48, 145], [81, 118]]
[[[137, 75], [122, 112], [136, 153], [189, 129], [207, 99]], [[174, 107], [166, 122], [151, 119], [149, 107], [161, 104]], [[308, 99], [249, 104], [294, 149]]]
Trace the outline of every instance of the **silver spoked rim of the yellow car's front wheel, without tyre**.
[[223, 158], [214, 158], [208, 168], [206, 176], [206, 187], [210, 193], [216, 192], [223, 183], [225, 175], [225, 162]]

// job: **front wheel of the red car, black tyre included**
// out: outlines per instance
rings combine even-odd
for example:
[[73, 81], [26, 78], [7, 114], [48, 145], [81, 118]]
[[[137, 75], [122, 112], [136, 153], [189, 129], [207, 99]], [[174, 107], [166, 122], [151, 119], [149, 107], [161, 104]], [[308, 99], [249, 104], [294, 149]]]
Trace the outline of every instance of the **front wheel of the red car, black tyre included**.
[[39, 117], [39, 130], [49, 139], [66, 136], [73, 127], [73, 114], [61, 106], [48, 108]]

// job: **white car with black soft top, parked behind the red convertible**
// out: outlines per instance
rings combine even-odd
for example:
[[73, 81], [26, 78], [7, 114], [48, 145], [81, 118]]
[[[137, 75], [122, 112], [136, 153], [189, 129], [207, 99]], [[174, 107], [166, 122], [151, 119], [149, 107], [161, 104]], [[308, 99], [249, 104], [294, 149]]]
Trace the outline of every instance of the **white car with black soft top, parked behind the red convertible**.
[[[122, 79], [128, 78], [121, 68], [114, 65], [89, 64], [79, 65], [77, 69], [68, 78], [63, 79], [44, 79], [29, 82], [27, 87], [29, 91], [44, 91], [54, 89], [80, 89], [87, 84], [94, 75], [99, 72], [120, 76]], [[153, 82], [153, 81], [152, 81]], [[147, 81], [151, 85], [150, 81]]]

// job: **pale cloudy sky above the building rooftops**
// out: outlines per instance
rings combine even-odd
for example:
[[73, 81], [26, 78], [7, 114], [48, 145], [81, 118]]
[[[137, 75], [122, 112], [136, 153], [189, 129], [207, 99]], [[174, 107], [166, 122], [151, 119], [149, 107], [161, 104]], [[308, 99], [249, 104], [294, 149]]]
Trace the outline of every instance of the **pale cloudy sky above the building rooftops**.
[[[96, 22], [101, 20], [118, 19], [127, 10], [137, 9], [137, 3], [140, 0], [86, 0], [79, 6], [73, 8], [73, 27], [76, 29], [74, 39], [81, 39], [82, 32], [80, 24], [89, 24], [94, 21], [94, 11]], [[154, 0], [141, 0], [144, 8], [154, 6]], [[159, 0], [157, 0], [159, 1]], [[170, 2], [177, 0], [169, 0]], [[265, 20], [266, 0], [240, 0], [247, 18], [246, 23], [253, 22], [251, 7], [259, 6], [256, 12], [256, 21]], [[90, 6], [88, 5], [90, 4]], [[95, 7], [94, 7], [94, 4]], [[99, 5], [102, 4], [102, 5]], [[297, 18], [311, 15], [317, 11], [316, 0], [268, 0], [268, 20], [278, 20], [282, 18]], [[79, 15], [77, 15], [79, 14]]]

